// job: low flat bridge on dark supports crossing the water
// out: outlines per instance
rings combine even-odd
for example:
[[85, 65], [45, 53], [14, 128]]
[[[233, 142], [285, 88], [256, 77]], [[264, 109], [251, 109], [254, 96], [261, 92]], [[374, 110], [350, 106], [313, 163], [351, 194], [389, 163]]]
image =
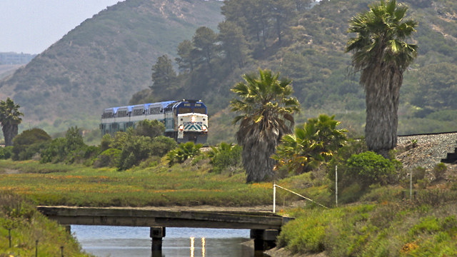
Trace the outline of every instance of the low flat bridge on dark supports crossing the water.
[[38, 206], [48, 218], [64, 226], [142, 226], [151, 228], [153, 256], [161, 256], [166, 227], [174, 228], [242, 228], [251, 229], [256, 253], [276, 246], [281, 226], [291, 218], [266, 211], [187, 211], [154, 208], [91, 208]]

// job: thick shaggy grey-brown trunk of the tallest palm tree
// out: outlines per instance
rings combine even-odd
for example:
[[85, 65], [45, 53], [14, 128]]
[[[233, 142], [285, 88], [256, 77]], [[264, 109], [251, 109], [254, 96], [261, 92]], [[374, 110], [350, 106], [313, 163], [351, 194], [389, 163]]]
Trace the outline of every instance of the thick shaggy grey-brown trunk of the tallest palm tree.
[[368, 149], [388, 158], [397, 144], [398, 97], [403, 72], [392, 66], [378, 66], [371, 74], [363, 71], [366, 85], [366, 127]]

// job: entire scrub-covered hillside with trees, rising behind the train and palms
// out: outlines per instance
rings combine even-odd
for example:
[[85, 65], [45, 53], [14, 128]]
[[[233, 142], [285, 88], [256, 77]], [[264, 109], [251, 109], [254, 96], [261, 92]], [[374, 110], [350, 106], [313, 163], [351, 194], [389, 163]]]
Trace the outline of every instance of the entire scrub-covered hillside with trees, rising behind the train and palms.
[[[25, 126], [63, 131], [74, 125], [95, 128], [106, 106], [201, 96], [209, 106], [211, 131], [218, 131], [209, 141], [233, 141], [229, 89], [241, 74], [261, 67], [293, 80], [302, 106], [297, 124], [335, 114], [351, 136], [361, 136], [364, 94], [344, 49], [348, 20], [373, 1], [353, 0], [350, 6], [343, 0], [320, 1], [308, 8], [309, 2], [281, 1], [286, 4], [271, 8], [248, 0], [126, 0], [84, 21], [1, 81], [0, 98], [13, 96], [23, 106]], [[408, 18], [419, 22], [411, 39], [419, 51], [403, 81], [398, 133], [457, 131], [457, 4], [404, 2], [410, 6]], [[224, 19], [219, 24], [226, 25], [224, 30], [216, 30]], [[149, 89], [157, 57], [168, 54], [182, 61], [186, 56], [177, 46], [191, 40], [199, 26], [217, 31], [207, 40], [211, 59], [192, 41], [189, 59], [173, 61], [180, 69], [172, 87]]]

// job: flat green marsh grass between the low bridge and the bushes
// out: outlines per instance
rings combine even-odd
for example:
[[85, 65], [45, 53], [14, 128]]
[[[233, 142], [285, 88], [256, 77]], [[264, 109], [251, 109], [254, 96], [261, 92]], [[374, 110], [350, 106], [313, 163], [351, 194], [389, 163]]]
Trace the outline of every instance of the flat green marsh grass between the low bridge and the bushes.
[[6, 169], [21, 173], [0, 175], [0, 191], [14, 191], [41, 205], [252, 206], [272, 201], [272, 183], [246, 184], [243, 173], [215, 174], [190, 165], [116, 171], [0, 161], [0, 173]]

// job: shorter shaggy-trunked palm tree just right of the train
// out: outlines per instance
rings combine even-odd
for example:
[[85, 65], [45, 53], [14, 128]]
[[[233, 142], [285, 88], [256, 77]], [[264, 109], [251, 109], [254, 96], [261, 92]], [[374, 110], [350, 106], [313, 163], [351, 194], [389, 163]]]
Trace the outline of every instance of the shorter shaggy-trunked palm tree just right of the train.
[[243, 75], [244, 82], [233, 86], [239, 99], [230, 104], [232, 111], [241, 113], [233, 119], [240, 121], [236, 140], [243, 146], [241, 156], [246, 170], [246, 183], [263, 181], [273, 176], [276, 163], [271, 155], [276, 151], [281, 137], [291, 133], [292, 114], [299, 111], [298, 100], [293, 93], [291, 80], [278, 79], [279, 74], [259, 69], [259, 76]]

